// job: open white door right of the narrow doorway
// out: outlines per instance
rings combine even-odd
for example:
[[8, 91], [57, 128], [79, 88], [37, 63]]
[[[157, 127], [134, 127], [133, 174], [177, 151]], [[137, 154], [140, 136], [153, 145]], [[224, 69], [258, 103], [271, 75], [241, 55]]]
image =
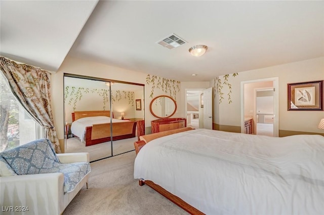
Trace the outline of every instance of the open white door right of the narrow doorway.
[[204, 128], [213, 129], [213, 93], [212, 88], [204, 90], [201, 103], [204, 104]]

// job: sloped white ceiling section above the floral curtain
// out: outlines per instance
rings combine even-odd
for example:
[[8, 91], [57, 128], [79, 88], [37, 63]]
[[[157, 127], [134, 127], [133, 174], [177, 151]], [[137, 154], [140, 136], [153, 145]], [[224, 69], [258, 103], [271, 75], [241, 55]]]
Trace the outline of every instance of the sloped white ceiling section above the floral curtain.
[[56, 72], [98, 1], [0, 1], [0, 55]]

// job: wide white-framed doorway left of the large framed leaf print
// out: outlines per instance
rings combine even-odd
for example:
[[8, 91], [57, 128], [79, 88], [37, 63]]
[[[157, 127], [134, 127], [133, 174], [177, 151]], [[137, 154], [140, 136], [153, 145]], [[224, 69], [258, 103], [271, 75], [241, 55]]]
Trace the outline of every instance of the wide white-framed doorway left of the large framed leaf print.
[[241, 133], [278, 137], [278, 105], [278, 77], [242, 81]]

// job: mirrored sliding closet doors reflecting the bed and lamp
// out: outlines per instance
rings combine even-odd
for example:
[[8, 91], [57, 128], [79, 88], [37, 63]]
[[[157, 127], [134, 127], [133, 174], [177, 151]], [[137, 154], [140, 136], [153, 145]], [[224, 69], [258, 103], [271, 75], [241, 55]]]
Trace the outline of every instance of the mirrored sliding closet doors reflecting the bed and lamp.
[[[65, 74], [65, 134], [68, 134], [65, 135], [65, 152], [89, 152], [90, 161], [95, 161], [133, 151], [133, 143], [138, 140], [137, 122], [144, 119], [144, 110], [138, 110], [135, 101], [143, 102], [143, 98], [143, 85], [111, 83]], [[140, 124], [143, 126], [143, 123]], [[78, 126], [75, 125], [85, 128], [77, 132], [75, 128]]]

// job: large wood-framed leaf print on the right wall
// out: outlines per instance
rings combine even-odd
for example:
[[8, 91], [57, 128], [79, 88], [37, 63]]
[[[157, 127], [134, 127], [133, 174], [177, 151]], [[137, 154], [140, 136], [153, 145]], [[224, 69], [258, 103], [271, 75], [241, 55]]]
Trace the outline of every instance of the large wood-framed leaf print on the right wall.
[[288, 110], [323, 111], [323, 80], [288, 83]]

